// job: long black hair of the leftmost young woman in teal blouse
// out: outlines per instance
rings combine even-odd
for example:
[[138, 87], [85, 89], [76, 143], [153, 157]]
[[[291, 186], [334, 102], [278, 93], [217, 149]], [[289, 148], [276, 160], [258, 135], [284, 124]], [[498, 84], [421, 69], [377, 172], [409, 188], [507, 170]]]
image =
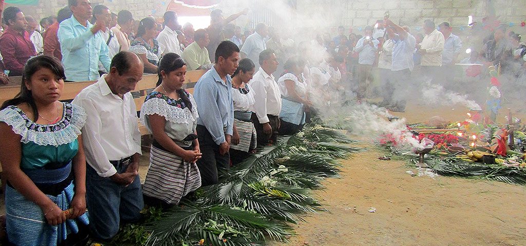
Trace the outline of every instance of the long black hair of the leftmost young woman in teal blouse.
[[3, 110], [11, 105], [18, 105], [21, 103], [27, 103], [33, 110], [34, 122], [38, 120], [38, 109], [36, 108], [35, 99], [31, 90], [27, 89], [26, 81], [31, 82], [33, 74], [42, 68], [47, 68], [51, 70], [56, 76], [61, 79], [66, 79], [66, 74], [64, 73], [64, 67], [60, 61], [52, 56], [36, 56], [29, 58], [24, 67], [24, 72], [22, 73], [22, 84], [20, 87], [20, 92], [15, 96], [15, 98], [5, 101], [0, 110]]

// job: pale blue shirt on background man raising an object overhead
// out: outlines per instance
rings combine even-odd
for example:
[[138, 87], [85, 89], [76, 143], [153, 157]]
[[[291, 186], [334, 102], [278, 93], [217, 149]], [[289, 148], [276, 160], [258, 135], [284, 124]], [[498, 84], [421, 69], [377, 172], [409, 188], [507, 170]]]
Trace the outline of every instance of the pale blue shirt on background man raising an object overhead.
[[414, 39], [409, 33], [405, 39], [398, 39], [398, 41], [395, 41], [392, 55], [392, 71], [400, 71], [404, 69], [413, 70], [413, 54], [416, 51], [416, 42], [416, 39]]

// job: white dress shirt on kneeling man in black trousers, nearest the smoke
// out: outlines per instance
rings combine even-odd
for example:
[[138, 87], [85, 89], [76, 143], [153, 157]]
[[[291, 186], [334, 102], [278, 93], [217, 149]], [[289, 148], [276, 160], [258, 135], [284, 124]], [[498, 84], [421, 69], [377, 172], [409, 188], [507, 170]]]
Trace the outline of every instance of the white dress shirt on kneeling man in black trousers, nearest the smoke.
[[256, 100], [254, 108], [259, 123], [269, 122], [267, 114], [278, 116], [281, 112], [281, 92], [274, 76], [259, 68], [249, 83], [254, 89], [254, 99]]

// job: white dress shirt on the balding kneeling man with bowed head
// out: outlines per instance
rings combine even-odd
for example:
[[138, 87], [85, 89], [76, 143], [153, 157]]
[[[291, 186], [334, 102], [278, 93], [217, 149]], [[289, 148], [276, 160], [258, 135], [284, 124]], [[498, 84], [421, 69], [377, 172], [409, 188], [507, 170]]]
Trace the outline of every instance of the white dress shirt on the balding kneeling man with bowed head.
[[129, 92], [123, 99], [113, 94], [105, 78], [100, 77], [73, 100], [87, 114], [82, 129], [86, 161], [101, 177], [117, 173], [109, 161], [142, 154], [133, 97]]

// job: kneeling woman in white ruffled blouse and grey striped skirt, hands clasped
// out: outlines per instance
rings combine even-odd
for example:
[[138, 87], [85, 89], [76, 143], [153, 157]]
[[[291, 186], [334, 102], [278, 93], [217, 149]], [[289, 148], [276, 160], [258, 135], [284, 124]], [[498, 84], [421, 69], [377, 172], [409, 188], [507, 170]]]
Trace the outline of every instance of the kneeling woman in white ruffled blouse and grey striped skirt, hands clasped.
[[150, 168], [143, 194], [149, 205], [176, 205], [201, 186], [196, 161], [201, 158], [197, 141], [197, 107], [183, 88], [186, 65], [175, 53], [159, 62], [157, 88], [146, 97], [140, 119], [153, 134]]

